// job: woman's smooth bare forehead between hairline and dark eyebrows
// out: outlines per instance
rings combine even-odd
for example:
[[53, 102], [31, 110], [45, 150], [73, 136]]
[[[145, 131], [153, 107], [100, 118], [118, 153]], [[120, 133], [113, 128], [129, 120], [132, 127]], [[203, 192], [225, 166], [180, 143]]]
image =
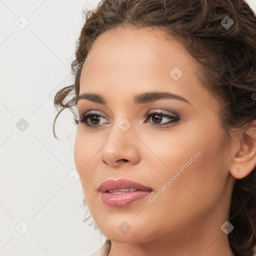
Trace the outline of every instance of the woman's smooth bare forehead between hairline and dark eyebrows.
[[[118, 100], [118, 96], [164, 87], [165, 91], [196, 97], [186, 85], [199, 86], [192, 57], [174, 36], [152, 28], [118, 28], [100, 34], [88, 55], [94, 49], [98, 53], [82, 68], [79, 94], [100, 92], [109, 97], [114, 93]], [[172, 70], [182, 73], [178, 80], [171, 77]]]

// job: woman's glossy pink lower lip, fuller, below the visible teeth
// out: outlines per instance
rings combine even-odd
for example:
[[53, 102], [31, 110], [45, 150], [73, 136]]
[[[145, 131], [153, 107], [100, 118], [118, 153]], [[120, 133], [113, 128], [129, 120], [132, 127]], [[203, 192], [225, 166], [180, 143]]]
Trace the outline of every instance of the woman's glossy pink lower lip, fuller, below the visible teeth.
[[134, 203], [135, 201], [146, 197], [151, 191], [134, 191], [123, 192], [120, 194], [112, 194], [108, 192], [101, 192], [102, 202], [110, 207], [123, 207]]

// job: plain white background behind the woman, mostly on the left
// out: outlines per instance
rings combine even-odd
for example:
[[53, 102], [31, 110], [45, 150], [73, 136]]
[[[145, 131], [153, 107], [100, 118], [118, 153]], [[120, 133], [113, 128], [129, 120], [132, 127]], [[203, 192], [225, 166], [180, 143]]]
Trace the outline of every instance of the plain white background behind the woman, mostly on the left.
[[0, 0], [0, 256], [88, 255], [104, 242], [82, 223], [80, 180], [66, 176], [75, 169], [72, 115], [59, 116], [56, 140], [46, 98], [70, 73], [82, 10], [97, 2]]

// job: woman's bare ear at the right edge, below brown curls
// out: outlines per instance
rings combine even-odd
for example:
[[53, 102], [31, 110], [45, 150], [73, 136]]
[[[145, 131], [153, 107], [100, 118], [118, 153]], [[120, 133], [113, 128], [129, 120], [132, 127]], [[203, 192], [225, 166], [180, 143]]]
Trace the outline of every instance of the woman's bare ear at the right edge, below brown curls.
[[235, 178], [248, 175], [256, 165], [256, 119], [238, 137], [238, 148], [232, 158], [230, 174]]

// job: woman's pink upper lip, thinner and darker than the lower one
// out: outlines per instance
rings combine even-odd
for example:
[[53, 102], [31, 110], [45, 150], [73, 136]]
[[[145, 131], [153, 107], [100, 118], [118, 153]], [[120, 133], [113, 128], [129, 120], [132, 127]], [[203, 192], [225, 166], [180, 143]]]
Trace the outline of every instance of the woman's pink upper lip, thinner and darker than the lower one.
[[107, 179], [104, 182], [100, 184], [98, 187], [98, 190], [100, 192], [106, 192], [109, 189], [121, 189], [121, 188], [136, 188], [136, 189], [141, 189], [141, 190], [152, 190], [151, 187], [149, 186], [144, 186], [142, 184], [139, 184], [137, 182], [128, 180], [128, 179]]

